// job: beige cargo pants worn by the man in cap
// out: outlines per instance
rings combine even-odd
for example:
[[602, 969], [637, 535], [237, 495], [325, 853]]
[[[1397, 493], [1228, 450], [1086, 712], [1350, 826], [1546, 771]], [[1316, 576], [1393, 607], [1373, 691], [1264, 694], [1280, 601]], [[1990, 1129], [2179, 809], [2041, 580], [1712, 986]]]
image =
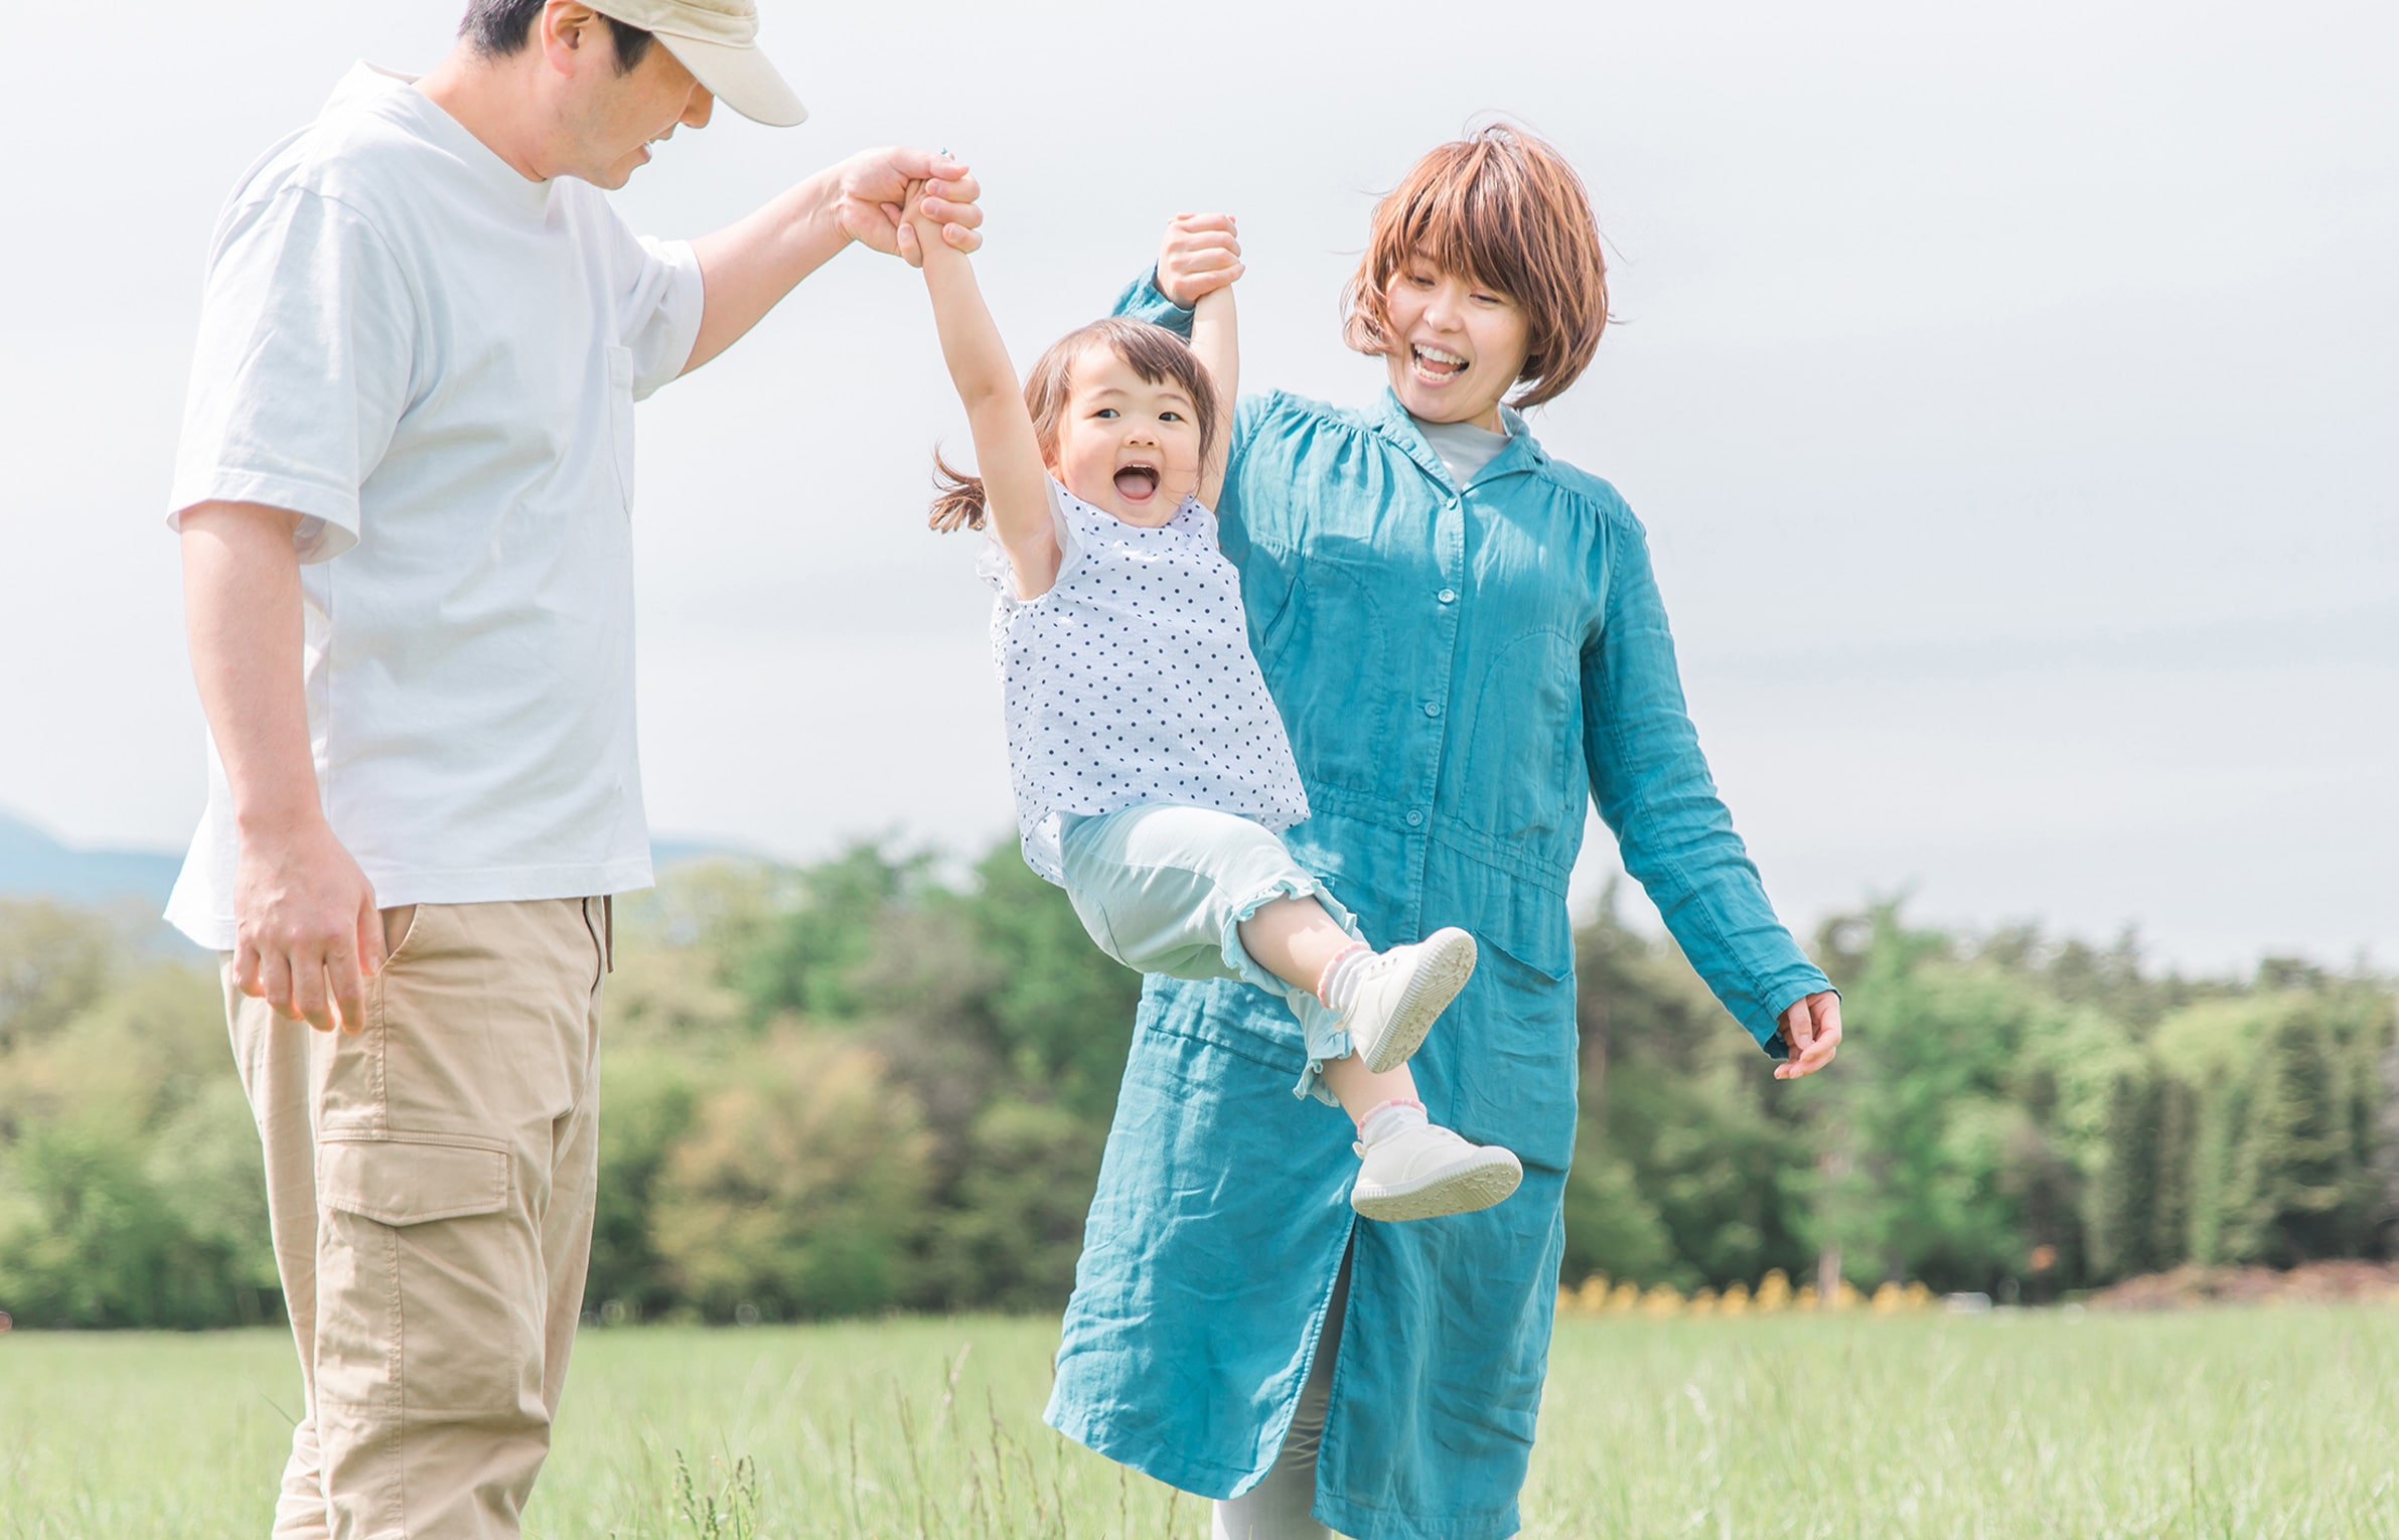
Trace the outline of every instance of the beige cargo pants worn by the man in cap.
[[516, 1535], [590, 1262], [607, 900], [384, 931], [357, 1034], [226, 981], [305, 1394], [273, 1533]]

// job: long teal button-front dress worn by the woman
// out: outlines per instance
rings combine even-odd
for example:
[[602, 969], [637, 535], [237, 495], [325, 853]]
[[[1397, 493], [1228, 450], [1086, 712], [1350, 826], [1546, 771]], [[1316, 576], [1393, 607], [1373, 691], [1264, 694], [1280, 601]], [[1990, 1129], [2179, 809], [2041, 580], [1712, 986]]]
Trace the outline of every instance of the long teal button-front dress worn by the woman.
[[[1118, 309], [1190, 326], [1149, 281]], [[1377, 948], [1439, 926], [1483, 943], [1413, 1063], [1430, 1115], [1514, 1149], [1523, 1187], [1480, 1214], [1358, 1221], [1348, 1120], [1291, 1099], [1291, 1010], [1152, 976], [1046, 1413], [1168, 1485], [1245, 1492], [1348, 1252], [1315, 1514], [1358, 1540], [1519, 1528], [1574, 1154], [1583, 799], [1761, 1048], [1780, 1055], [1780, 1012], [1830, 988], [1708, 777], [1641, 525], [1507, 425], [1454, 487], [1396, 396], [1250, 396], [1216, 513], [1312, 806], [1286, 842]]]

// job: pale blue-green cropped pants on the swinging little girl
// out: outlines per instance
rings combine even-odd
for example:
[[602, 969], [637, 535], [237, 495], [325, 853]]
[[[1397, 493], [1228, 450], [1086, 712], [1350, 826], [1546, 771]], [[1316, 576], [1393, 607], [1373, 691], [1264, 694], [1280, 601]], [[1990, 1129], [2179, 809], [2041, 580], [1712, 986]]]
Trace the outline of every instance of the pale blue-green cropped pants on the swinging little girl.
[[1341, 1017], [1312, 988], [1283, 983], [1240, 945], [1240, 926], [1279, 897], [1312, 897], [1351, 936], [1358, 921], [1262, 825], [1235, 813], [1142, 804], [1065, 820], [1065, 892], [1108, 957], [1171, 979], [1240, 979], [1291, 1005], [1307, 1043], [1293, 1096], [1334, 1103], [1324, 1060], [1351, 1051]]

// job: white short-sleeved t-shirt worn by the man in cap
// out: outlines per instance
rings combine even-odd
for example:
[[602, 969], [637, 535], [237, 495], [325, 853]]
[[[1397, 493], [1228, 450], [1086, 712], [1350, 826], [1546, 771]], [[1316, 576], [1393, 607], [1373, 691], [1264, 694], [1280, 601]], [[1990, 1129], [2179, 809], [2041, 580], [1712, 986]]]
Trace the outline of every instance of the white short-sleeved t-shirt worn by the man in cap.
[[[633, 401], [698, 331], [691, 247], [369, 65], [226, 204], [168, 523], [302, 516], [317, 784], [379, 904], [650, 883]], [[199, 945], [233, 945], [235, 849], [211, 744], [168, 902]]]

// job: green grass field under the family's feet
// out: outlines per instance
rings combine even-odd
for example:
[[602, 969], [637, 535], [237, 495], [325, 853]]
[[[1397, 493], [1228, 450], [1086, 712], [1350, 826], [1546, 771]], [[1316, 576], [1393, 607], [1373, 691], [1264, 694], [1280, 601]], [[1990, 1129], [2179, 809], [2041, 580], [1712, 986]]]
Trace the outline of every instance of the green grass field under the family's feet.
[[[552, 1540], [1204, 1535], [1039, 1425], [1056, 1324], [588, 1331]], [[278, 1331], [0, 1336], [0, 1540], [264, 1535]], [[689, 1470], [689, 1482], [681, 1470]], [[1526, 1535], [2399, 1535], [2399, 1310], [1559, 1322]]]

